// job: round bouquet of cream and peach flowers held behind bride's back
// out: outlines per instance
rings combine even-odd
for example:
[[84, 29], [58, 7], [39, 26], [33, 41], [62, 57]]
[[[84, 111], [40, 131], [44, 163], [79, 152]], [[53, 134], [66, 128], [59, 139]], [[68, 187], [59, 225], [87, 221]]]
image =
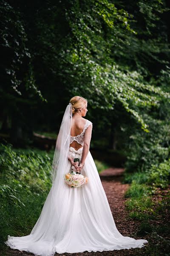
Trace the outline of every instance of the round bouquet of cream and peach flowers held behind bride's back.
[[[74, 162], [79, 162], [78, 158], [74, 158]], [[72, 188], [77, 188], [80, 186], [84, 186], [85, 183], [88, 182], [88, 177], [84, 177], [81, 175], [81, 173], [76, 172], [74, 173], [73, 171], [71, 173], [66, 173], [64, 177], [65, 182], [71, 186]]]

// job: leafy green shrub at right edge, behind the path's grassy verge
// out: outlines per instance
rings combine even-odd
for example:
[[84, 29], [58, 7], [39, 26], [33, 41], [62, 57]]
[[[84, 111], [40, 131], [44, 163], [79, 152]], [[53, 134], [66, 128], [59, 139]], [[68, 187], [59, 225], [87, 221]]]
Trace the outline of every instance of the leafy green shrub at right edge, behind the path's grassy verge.
[[153, 119], [145, 114], [150, 133], [131, 130], [126, 141], [126, 172], [146, 172], [151, 165], [163, 162], [170, 156], [170, 125], [167, 120]]

